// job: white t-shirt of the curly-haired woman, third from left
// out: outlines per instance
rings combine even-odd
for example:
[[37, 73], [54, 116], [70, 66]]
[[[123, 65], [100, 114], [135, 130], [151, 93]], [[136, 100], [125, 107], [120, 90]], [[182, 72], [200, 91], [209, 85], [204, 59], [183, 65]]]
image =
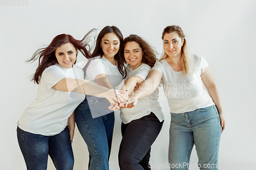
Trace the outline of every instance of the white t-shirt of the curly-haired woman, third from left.
[[[151, 66], [142, 63], [138, 68], [132, 70], [131, 66], [127, 66], [127, 80], [133, 76], [139, 76], [143, 80], [146, 80], [148, 74], [150, 73]], [[162, 108], [158, 102], [158, 88], [151, 94], [146, 96], [143, 99], [138, 100], [138, 103], [133, 108], [124, 108], [120, 109], [120, 117], [123, 124], [130, 123], [132, 120], [139, 119], [143, 116], [150, 114], [151, 112], [155, 113], [160, 122], [163, 121], [164, 115], [162, 112]], [[133, 93], [132, 93], [133, 94]], [[131, 94], [131, 95], [132, 95]]]

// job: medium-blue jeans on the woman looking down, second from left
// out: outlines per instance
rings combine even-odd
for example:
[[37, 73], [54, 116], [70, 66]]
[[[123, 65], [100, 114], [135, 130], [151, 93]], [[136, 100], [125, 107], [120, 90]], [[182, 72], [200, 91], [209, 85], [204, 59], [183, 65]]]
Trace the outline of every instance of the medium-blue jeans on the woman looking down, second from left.
[[89, 169], [109, 169], [109, 156], [115, 123], [115, 115], [112, 111], [109, 114], [93, 118], [89, 105], [95, 105], [105, 112], [108, 112], [110, 103], [105, 98], [86, 96], [86, 99], [76, 108], [75, 120], [77, 128], [87, 144], [89, 151]]

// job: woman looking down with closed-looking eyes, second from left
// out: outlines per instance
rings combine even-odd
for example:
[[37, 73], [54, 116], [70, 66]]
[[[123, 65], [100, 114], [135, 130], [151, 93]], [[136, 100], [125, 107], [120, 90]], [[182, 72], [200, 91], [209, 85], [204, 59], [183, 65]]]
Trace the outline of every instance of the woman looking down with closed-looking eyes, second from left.
[[[122, 41], [122, 33], [115, 26], [106, 26], [100, 31], [92, 54], [94, 58], [88, 61], [90, 64], [85, 68], [86, 80], [109, 89], [118, 89], [125, 75], [119, 57]], [[86, 95], [86, 99], [75, 110], [78, 130], [90, 154], [89, 169], [109, 169], [115, 123], [115, 115], [109, 109], [110, 105], [105, 98]]]

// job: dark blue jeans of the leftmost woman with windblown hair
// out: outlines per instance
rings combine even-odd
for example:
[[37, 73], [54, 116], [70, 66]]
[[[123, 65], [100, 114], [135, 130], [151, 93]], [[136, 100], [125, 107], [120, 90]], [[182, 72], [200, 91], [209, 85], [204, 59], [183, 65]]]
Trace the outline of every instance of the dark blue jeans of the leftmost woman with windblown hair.
[[48, 154], [56, 169], [73, 169], [74, 155], [68, 127], [54, 136], [33, 134], [17, 128], [17, 138], [28, 170], [46, 170]]

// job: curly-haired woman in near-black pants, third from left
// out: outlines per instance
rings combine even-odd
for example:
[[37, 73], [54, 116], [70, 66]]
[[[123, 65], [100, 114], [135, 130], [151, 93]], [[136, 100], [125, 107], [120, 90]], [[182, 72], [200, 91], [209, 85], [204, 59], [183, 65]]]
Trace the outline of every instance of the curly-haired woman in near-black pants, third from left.
[[[130, 35], [121, 47], [122, 62], [127, 64], [124, 89], [132, 94], [147, 78], [156, 63], [153, 48], [141, 37]], [[158, 88], [133, 108], [121, 109], [122, 141], [118, 160], [121, 170], [150, 169], [151, 145], [163, 126], [162, 108], [158, 102]]]

